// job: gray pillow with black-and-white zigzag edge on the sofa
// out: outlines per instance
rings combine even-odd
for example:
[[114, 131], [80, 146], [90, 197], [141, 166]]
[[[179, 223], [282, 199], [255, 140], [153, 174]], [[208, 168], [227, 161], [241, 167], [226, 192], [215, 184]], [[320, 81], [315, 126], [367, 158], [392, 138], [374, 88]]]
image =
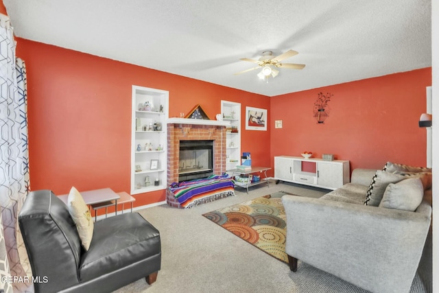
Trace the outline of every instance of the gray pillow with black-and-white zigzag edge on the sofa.
[[377, 172], [375, 172], [375, 176], [372, 178], [372, 182], [368, 187], [368, 191], [366, 192], [366, 200], [364, 201], [364, 205], [378, 207], [381, 199], [383, 198], [385, 188], [390, 183], [397, 183], [405, 178], [407, 177], [401, 174], [377, 170]]

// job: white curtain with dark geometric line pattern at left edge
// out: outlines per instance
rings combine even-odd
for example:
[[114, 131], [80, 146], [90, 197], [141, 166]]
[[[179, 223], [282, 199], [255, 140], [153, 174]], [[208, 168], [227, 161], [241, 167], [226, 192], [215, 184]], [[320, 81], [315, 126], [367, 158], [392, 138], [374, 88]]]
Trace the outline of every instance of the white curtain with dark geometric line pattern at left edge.
[[[18, 215], [29, 192], [29, 154], [27, 149], [26, 70], [23, 60], [16, 59], [14, 32], [8, 16], [0, 14], [0, 207], [3, 228], [5, 263], [14, 277], [21, 281], [10, 283], [3, 279], [5, 292], [25, 292], [32, 276]], [[1, 238], [0, 238], [1, 239]], [[0, 242], [0, 257], [3, 245]], [[1, 263], [0, 263], [1, 265]], [[1, 271], [1, 268], [0, 268]], [[30, 278], [32, 280], [32, 278]], [[0, 288], [1, 289], [1, 288]]]

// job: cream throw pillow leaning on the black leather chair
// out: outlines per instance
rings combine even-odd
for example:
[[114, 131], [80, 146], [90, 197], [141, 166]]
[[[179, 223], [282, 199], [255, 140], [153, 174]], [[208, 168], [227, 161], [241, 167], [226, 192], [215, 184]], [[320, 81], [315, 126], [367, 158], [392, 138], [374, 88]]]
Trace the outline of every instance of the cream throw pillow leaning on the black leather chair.
[[67, 207], [69, 208], [71, 218], [76, 224], [81, 244], [85, 250], [88, 250], [95, 226], [84, 198], [82, 198], [80, 191], [75, 187], [71, 187], [69, 198], [67, 199]]

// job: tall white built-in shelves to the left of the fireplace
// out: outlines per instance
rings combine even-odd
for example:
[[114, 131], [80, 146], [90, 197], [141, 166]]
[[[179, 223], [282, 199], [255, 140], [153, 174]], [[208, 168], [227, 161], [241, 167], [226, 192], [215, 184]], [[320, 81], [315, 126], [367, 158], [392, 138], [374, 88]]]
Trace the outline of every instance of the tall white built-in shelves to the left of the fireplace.
[[132, 86], [131, 194], [166, 189], [168, 103], [168, 91]]

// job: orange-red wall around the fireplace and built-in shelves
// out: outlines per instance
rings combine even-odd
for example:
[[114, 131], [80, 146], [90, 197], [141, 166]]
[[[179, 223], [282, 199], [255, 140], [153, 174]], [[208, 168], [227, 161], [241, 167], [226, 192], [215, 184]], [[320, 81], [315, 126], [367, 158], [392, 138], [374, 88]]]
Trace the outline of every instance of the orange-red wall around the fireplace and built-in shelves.
[[[132, 85], [169, 91], [169, 117], [201, 104], [215, 119], [221, 99], [268, 109], [270, 98], [162, 71], [17, 38], [25, 60], [32, 190], [66, 194], [110, 187], [130, 191]], [[270, 165], [270, 131], [245, 130], [241, 150]], [[255, 141], [259, 143], [254, 143]], [[165, 200], [165, 191], [135, 196], [135, 206]]]

